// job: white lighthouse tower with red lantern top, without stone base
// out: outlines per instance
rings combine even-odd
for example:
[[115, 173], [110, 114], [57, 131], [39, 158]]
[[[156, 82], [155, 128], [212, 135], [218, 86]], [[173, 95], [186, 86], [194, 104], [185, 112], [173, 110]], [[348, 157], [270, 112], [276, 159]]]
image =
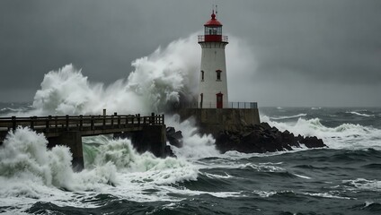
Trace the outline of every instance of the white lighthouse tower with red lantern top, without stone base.
[[199, 107], [226, 108], [228, 107], [225, 62], [227, 36], [222, 35], [222, 24], [217, 21], [214, 10], [211, 19], [204, 26], [204, 35], [199, 36], [199, 45], [202, 47]]

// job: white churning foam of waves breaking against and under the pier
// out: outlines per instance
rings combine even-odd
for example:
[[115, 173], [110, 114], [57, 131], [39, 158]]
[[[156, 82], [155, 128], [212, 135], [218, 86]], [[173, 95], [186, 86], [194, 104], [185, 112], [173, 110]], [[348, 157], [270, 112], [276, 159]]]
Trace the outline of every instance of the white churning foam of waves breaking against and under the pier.
[[[128, 140], [93, 141], [99, 143], [93, 151], [95, 158], [89, 168], [75, 173], [66, 147], [47, 150], [45, 137], [29, 128], [9, 133], [0, 150], [0, 205], [26, 209], [39, 199], [58, 206], [84, 207], [81, 198], [96, 193], [113, 193], [133, 201], [180, 201], [165, 196], [166, 187], [197, 180], [198, 168], [185, 159], [158, 159], [148, 152], [139, 155]], [[85, 203], [90, 206], [92, 203]]]

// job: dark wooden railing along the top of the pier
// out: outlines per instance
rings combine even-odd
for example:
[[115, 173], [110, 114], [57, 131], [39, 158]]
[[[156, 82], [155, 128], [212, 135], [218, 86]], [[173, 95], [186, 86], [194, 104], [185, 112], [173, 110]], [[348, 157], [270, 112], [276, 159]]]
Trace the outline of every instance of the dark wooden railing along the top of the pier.
[[164, 125], [164, 115], [140, 116], [31, 116], [31, 117], [0, 117], [0, 132], [15, 130], [18, 126], [30, 127], [32, 130], [57, 132], [58, 130], [96, 130], [102, 128], [122, 128], [139, 125]]

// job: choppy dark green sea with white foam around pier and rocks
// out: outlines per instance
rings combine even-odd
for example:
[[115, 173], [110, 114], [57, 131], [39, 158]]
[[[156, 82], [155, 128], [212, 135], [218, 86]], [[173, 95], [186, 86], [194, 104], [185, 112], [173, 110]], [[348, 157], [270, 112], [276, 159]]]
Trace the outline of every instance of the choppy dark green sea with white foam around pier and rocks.
[[[0, 116], [30, 104], [1, 104]], [[177, 159], [138, 154], [128, 140], [83, 139], [85, 169], [66, 147], [19, 128], [0, 146], [5, 214], [381, 214], [381, 108], [260, 107], [261, 121], [329, 146], [220, 154], [211, 135], [173, 116]], [[168, 116], [169, 118], [169, 116]]]

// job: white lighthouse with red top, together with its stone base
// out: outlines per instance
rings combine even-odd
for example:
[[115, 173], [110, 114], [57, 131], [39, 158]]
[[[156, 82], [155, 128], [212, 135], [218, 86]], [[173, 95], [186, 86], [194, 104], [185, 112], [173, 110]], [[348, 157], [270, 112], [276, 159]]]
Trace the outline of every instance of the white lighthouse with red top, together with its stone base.
[[202, 52], [198, 105], [194, 107], [190, 103], [190, 106], [179, 108], [177, 114], [181, 120], [192, 117], [200, 133], [218, 137], [223, 131], [245, 131], [247, 125], [259, 125], [261, 121], [257, 102], [228, 100], [225, 61], [228, 42], [222, 35], [222, 24], [217, 21], [216, 14], [213, 10], [211, 19], [204, 24], [204, 34], [199, 36]]

